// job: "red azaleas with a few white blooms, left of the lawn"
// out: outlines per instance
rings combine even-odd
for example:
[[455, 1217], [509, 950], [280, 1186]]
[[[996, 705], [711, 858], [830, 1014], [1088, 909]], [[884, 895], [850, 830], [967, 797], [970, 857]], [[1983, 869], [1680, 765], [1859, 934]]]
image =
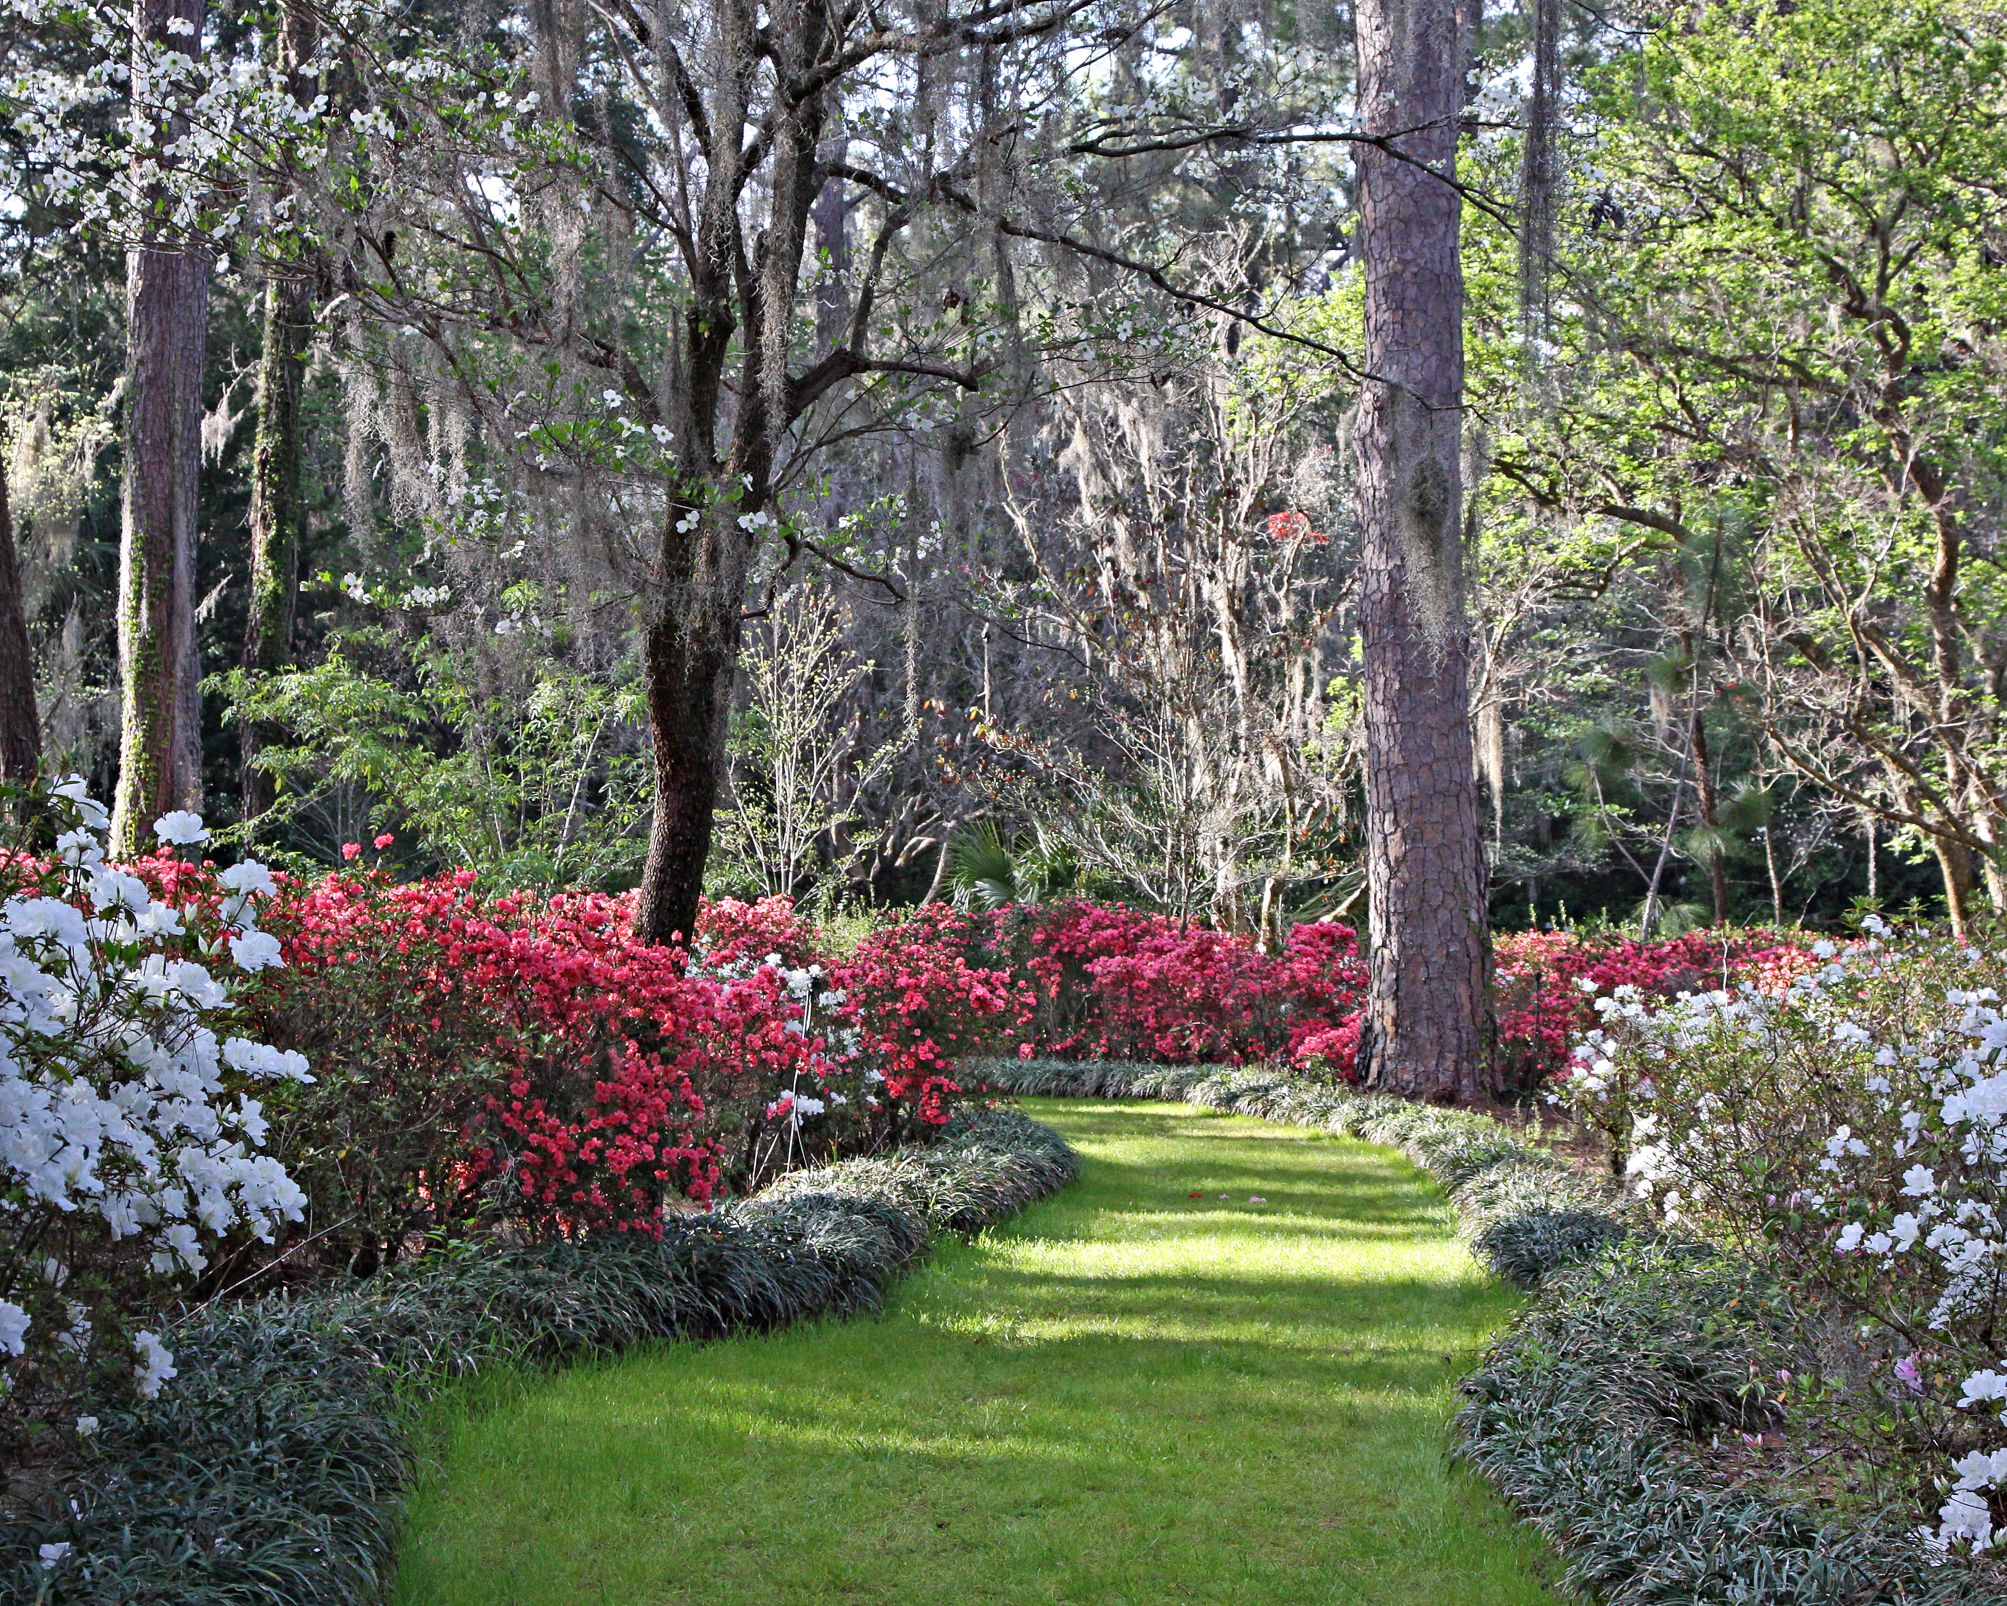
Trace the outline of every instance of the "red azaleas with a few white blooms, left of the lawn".
[[833, 956], [785, 899], [714, 903], [692, 966], [630, 919], [470, 871], [281, 883], [287, 964], [239, 1002], [315, 1070], [273, 1112], [295, 1243], [367, 1271], [496, 1219], [654, 1233], [682, 1200], [941, 1126], [947, 1056], [1020, 1012], [917, 921]]

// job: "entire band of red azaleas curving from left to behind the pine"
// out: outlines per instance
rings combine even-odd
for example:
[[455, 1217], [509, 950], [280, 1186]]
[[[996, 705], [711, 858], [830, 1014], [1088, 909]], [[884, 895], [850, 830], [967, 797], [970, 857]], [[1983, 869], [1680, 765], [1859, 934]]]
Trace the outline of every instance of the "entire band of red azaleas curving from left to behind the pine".
[[[136, 869], [167, 897], [215, 895], [175, 859]], [[363, 1259], [498, 1213], [650, 1231], [721, 1186], [943, 1124], [971, 1054], [1353, 1076], [1365, 992], [1347, 925], [1297, 925], [1262, 954], [1082, 901], [935, 905], [837, 956], [787, 899], [721, 899], [692, 964], [634, 942], [628, 899], [341, 871], [285, 883], [263, 925], [287, 966], [245, 986], [249, 1026], [319, 1078], [273, 1112], [275, 1148], [313, 1200], [305, 1235]], [[1762, 931], [1499, 938], [1501, 1060], [1527, 1086], [1559, 1070], [1594, 992], [1776, 986], [1806, 964]]]

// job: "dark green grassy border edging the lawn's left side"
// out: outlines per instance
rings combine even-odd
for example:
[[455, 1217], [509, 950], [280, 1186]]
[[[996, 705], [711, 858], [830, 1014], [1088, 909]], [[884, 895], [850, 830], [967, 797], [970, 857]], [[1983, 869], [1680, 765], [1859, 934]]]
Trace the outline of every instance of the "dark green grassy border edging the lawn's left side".
[[171, 1333], [173, 1389], [96, 1407], [80, 1488], [0, 1530], [0, 1598], [381, 1600], [417, 1411], [454, 1379], [869, 1309], [935, 1237], [1004, 1221], [1074, 1172], [1050, 1128], [957, 1112], [923, 1150], [799, 1170], [652, 1235], [460, 1243], [369, 1279], [213, 1307]]

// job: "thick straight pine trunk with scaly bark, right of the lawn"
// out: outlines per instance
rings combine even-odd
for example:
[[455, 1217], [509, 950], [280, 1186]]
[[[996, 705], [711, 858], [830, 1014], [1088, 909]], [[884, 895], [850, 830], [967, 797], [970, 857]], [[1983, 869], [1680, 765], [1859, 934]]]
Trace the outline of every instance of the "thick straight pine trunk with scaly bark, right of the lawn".
[[[1371, 982], [1361, 1066], [1377, 1088], [1467, 1102], [1491, 1086], [1491, 942], [1463, 598], [1463, 273], [1453, 173], [1453, 0], [1359, 6], [1365, 365], [1359, 622], [1365, 666]], [[1405, 159], [1403, 159], [1405, 157]]]

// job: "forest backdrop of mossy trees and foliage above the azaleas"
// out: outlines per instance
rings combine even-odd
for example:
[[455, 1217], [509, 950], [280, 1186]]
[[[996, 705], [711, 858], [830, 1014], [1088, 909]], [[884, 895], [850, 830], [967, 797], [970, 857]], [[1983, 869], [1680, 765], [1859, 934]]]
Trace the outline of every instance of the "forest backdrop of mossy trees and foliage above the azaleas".
[[[660, 654], [731, 650], [712, 895], [1357, 919], [1349, 8], [915, 4], [763, 122], [823, 16], [20, 0], [0, 462], [46, 767], [134, 785], [151, 466], [197, 658], [159, 799], [265, 857], [632, 887]], [[2003, 36], [1467, 10], [1495, 925], [2007, 905]], [[721, 94], [765, 132], [727, 149]], [[759, 227], [712, 239], [733, 163]], [[173, 327], [149, 251], [203, 281]], [[660, 628], [664, 526], [743, 638]]]

